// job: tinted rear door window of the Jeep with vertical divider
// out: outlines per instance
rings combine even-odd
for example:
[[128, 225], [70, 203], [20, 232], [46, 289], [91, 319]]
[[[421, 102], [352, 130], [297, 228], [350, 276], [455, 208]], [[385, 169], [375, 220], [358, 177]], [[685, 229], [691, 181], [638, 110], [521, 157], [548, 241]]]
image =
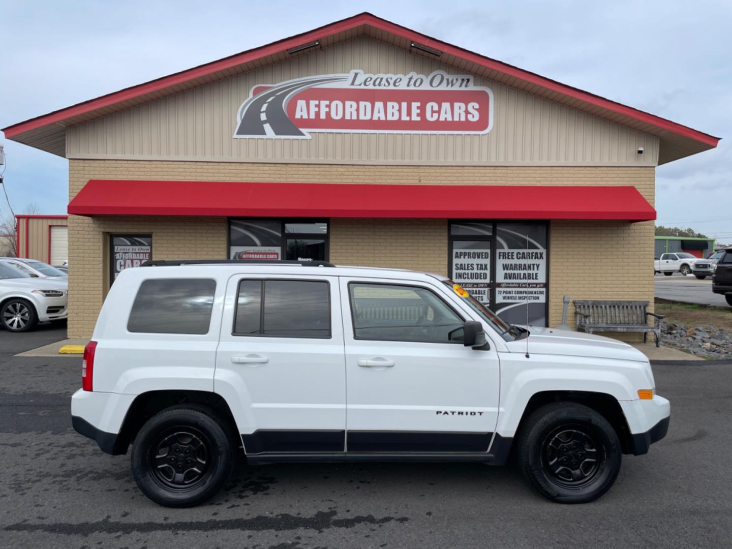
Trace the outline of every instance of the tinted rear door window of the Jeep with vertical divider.
[[329, 338], [330, 285], [325, 280], [242, 280], [234, 335]]

